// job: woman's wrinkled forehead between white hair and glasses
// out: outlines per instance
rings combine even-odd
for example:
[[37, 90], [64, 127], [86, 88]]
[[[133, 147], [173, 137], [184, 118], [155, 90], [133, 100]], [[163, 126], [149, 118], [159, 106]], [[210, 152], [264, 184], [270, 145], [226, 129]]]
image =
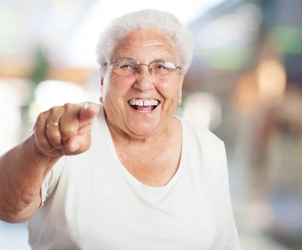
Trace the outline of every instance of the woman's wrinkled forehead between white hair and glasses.
[[[152, 51], [152, 52], [150, 52]], [[131, 32], [113, 51], [113, 57], [136, 57], [139, 53], [152, 53], [154, 59], [166, 59], [178, 63], [178, 54], [172, 38], [159, 29], [148, 28]], [[139, 59], [139, 58], [136, 58]]]

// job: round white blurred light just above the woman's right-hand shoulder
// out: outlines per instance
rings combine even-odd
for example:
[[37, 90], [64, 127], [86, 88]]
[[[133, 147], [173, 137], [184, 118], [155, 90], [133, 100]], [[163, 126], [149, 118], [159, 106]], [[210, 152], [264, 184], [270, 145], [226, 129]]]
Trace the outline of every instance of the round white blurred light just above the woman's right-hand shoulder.
[[220, 101], [210, 93], [195, 92], [186, 98], [182, 116], [214, 130], [221, 122]]

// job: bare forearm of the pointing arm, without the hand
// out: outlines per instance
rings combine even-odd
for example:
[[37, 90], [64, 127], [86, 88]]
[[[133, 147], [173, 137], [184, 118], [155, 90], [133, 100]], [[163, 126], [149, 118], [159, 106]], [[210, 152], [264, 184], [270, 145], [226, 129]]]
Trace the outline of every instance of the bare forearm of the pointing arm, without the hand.
[[41, 185], [59, 158], [37, 153], [33, 140], [32, 136], [0, 157], [0, 220], [19, 222], [41, 203]]

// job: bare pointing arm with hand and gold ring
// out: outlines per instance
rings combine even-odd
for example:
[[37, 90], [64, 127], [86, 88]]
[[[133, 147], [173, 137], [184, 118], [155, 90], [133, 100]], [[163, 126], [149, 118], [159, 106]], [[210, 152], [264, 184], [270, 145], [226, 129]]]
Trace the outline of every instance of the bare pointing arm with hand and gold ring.
[[[30, 138], [0, 156], [0, 220], [18, 223], [34, 215], [41, 205], [42, 183], [54, 164], [90, 148], [98, 112], [94, 103], [53, 107], [39, 114]], [[50, 123], [56, 125], [47, 128]]]

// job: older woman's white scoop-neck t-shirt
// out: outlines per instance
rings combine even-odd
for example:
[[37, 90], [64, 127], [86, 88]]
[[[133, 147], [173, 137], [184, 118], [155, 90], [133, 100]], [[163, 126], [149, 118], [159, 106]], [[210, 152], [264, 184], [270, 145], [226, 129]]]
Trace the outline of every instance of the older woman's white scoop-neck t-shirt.
[[224, 144], [180, 119], [179, 168], [163, 187], [147, 186], [121, 164], [101, 106], [91, 148], [62, 157], [28, 220], [31, 249], [240, 250]]

